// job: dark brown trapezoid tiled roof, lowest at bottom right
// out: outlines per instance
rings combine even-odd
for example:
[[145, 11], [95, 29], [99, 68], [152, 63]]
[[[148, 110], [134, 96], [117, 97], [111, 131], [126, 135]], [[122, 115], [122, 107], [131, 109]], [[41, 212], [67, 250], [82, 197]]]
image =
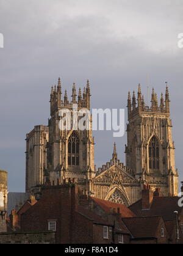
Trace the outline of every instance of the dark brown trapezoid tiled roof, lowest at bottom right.
[[161, 216], [123, 218], [123, 222], [134, 238], [156, 238]]

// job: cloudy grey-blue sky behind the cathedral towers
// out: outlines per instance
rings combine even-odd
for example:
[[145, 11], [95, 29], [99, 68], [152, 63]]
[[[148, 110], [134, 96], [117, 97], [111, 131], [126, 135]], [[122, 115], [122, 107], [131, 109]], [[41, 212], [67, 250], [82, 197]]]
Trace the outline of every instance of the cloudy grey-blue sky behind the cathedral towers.
[[[24, 191], [24, 141], [48, 123], [50, 87], [91, 82], [93, 108], [125, 108], [128, 90], [170, 86], [176, 166], [182, 174], [182, 0], [0, 0], [0, 169], [9, 191]], [[127, 122], [127, 120], [126, 120]], [[113, 141], [124, 161], [126, 134], [95, 136], [95, 163], [110, 160]]]

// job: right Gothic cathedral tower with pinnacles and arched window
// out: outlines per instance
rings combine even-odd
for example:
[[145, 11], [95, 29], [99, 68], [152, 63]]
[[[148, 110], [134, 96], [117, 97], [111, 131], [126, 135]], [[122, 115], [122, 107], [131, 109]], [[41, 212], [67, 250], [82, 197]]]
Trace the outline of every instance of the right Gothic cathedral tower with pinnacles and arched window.
[[178, 170], [174, 164], [168, 87], [158, 104], [152, 89], [151, 106], [146, 106], [140, 84], [137, 99], [129, 92], [127, 100], [126, 165], [135, 177], [160, 188], [163, 196], [178, 194]]

